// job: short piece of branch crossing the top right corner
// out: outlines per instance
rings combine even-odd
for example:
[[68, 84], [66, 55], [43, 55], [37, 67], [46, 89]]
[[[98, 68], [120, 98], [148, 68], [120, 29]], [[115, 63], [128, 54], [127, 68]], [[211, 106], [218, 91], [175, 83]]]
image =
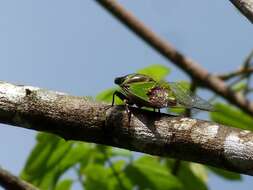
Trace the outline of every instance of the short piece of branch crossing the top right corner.
[[253, 0], [230, 0], [230, 2], [253, 23]]

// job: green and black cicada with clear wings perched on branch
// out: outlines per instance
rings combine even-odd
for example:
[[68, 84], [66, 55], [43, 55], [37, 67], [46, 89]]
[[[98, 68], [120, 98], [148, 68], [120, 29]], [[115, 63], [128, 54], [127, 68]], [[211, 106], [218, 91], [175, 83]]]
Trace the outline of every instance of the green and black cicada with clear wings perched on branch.
[[150, 76], [134, 73], [117, 77], [114, 83], [120, 86], [120, 90], [114, 92], [112, 106], [115, 96], [118, 96], [124, 101], [128, 114], [129, 105], [158, 109], [159, 112], [161, 108], [166, 107], [213, 111], [210, 103], [194, 95], [178, 82], [158, 82]]

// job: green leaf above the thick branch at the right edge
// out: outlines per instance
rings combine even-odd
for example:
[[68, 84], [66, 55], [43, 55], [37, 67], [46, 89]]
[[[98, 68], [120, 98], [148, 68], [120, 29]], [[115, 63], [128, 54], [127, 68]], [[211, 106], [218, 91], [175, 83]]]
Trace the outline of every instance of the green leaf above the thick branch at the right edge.
[[210, 112], [213, 121], [241, 129], [253, 130], [253, 118], [246, 113], [227, 104], [217, 103], [215, 112]]

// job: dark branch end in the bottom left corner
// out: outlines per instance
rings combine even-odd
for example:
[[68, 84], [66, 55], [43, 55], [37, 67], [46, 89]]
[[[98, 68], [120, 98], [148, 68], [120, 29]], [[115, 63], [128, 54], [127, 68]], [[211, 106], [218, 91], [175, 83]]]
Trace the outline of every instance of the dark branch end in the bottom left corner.
[[19, 179], [0, 167], [0, 185], [11, 190], [38, 190], [33, 185]]

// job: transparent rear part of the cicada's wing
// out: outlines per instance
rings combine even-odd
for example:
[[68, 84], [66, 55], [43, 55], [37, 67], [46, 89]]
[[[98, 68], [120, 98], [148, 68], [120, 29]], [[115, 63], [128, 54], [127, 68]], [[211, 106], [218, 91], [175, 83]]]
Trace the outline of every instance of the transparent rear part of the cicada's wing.
[[169, 86], [180, 105], [186, 108], [213, 111], [213, 106], [209, 102], [193, 94], [190, 90], [184, 88], [182, 84], [169, 82]]

